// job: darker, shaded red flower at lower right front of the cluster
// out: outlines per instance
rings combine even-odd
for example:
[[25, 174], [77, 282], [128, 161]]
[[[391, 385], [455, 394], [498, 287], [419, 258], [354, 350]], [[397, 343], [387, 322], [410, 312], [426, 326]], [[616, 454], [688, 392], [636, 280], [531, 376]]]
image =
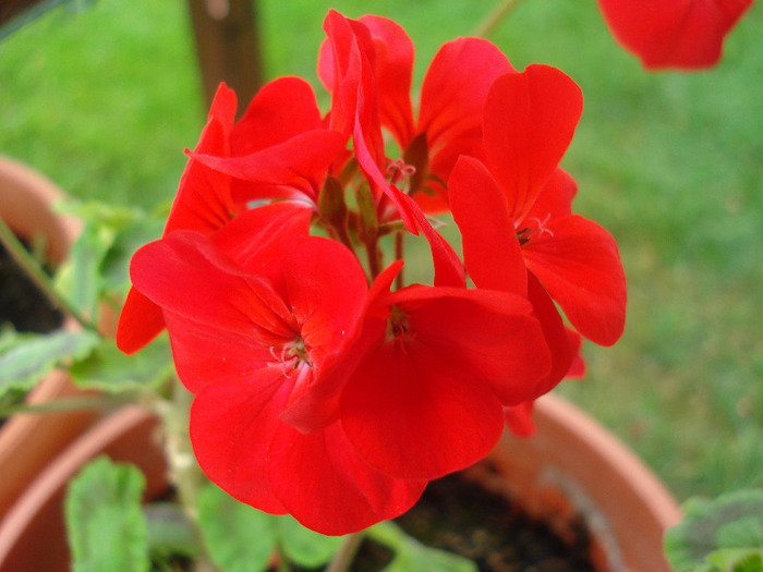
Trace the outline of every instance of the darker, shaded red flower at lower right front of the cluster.
[[301, 394], [283, 418], [314, 431], [338, 417], [372, 466], [432, 479], [484, 457], [502, 430], [502, 407], [538, 397], [550, 361], [523, 297], [421, 284], [390, 293], [399, 269], [374, 282], [349, 367]]

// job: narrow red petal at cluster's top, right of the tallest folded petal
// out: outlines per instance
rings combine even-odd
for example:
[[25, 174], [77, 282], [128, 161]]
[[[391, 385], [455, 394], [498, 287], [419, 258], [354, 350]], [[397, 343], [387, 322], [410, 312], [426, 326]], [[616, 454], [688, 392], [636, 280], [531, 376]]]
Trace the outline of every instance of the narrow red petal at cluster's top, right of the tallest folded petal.
[[359, 22], [368, 28], [374, 42], [382, 124], [404, 149], [413, 138], [413, 42], [399, 24], [386, 17], [363, 16]]

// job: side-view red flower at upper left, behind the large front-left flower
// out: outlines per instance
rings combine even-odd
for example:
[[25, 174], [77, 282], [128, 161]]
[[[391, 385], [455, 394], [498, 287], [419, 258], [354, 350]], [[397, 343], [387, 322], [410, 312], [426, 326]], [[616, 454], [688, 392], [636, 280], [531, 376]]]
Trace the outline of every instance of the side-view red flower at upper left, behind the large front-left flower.
[[[165, 236], [181, 229], [209, 235], [250, 200], [316, 199], [342, 142], [320, 127], [312, 87], [282, 77], [265, 85], [234, 123], [235, 109], [235, 94], [221, 84], [180, 180]], [[164, 327], [156, 304], [133, 288], [120, 316], [117, 345], [136, 352]]]

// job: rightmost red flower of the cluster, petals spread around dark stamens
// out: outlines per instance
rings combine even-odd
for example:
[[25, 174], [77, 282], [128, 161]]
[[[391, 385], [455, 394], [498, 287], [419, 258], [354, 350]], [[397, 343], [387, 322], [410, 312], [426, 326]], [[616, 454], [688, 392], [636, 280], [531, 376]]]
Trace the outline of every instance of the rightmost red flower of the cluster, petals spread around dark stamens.
[[536, 312], [547, 291], [580, 333], [608, 345], [625, 322], [617, 246], [598, 224], [571, 214], [574, 181], [557, 167], [581, 111], [580, 89], [554, 68], [500, 77], [485, 104], [486, 165], [461, 157], [448, 186], [479, 288], [526, 293]]

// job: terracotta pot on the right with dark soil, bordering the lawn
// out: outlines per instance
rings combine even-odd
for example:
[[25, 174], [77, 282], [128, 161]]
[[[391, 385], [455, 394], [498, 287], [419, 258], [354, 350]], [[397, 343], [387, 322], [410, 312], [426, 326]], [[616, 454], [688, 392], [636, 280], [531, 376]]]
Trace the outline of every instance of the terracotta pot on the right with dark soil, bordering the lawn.
[[556, 395], [536, 402], [536, 434], [506, 433], [487, 463], [465, 472], [521, 499], [528, 512], [564, 538], [572, 516], [592, 535], [594, 561], [610, 572], [670, 572], [663, 535], [677, 524], [677, 502], [615, 436]]

